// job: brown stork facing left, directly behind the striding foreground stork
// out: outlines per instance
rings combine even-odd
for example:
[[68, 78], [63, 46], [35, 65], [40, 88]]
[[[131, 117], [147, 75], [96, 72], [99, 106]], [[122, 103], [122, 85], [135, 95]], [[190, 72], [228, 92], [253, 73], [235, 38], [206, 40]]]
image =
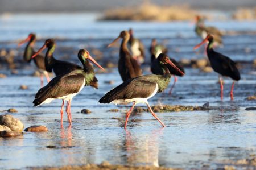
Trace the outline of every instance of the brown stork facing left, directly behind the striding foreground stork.
[[118, 71], [122, 80], [127, 81], [130, 78], [141, 76], [142, 70], [141, 65], [131, 56], [129, 49], [127, 48], [127, 42], [130, 39], [130, 34], [128, 31], [122, 31], [118, 38], [110, 43], [108, 47], [111, 47], [120, 38], [122, 38], [122, 43], [119, 51]]

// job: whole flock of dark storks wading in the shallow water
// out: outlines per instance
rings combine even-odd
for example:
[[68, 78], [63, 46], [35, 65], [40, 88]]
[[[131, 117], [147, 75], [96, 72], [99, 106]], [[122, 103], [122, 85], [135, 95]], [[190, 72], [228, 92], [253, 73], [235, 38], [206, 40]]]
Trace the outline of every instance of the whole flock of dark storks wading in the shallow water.
[[[210, 65], [215, 72], [219, 74], [221, 86], [221, 99], [223, 98], [223, 84], [222, 76], [230, 77], [235, 81], [240, 80], [240, 72], [236, 64], [229, 57], [214, 51], [214, 47], [222, 44], [221, 32], [214, 27], [206, 27], [204, 20], [200, 16], [195, 18], [196, 27], [195, 32], [203, 41], [195, 46], [194, 49], [205, 45], [205, 52], [207, 53]], [[156, 93], [161, 93], [167, 88], [171, 76], [175, 77], [174, 84], [169, 90], [171, 94], [172, 89], [177, 81], [176, 76], [184, 76], [184, 68], [177, 63], [173, 58], [167, 56], [167, 48], [159, 45], [156, 39], [152, 39], [149, 51], [151, 54], [151, 72], [152, 74], [142, 75], [141, 64], [144, 62], [144, 46], [139, 39], [134, 38], [133, 30], [121, 31], [119, 36], [113, 40], [108, 47], [121, 39], [119, 49], [118, 71], [123, 83], [106, 93], [98, 102], [100, 103], [114, 103], [128, 104], [133, 103], [130, 110], [126, 114], [125, 128], [131, 112], [137, 103], [144, 103], [147, 105], [153, 117], [164, 127], [164, 123], [156, 116], [154, 111], [148, 104], [148, 99], [155, 96]], [[34, 45], [36, 43], [36, 35], [31, 33], [28, 37], [20, 42], [18, 45], [27, 43], [24, 50], [23, 59], [27, 62], [34, 61], [36, 67], [40, 72], [41, 88], [35, 95], [33, 101], [34, 106], [40, 106], [44, 103], [50, 103], [54, 99], [61, 99], [62, 105], [60, 110], [61, 128], [63, 128], [63, 110], [66, 103], [66, 109], [69, 121], [69, 127], [72, 126], [71, 102], [84, 86], [92, 86], [98, 89], [98, 80], [94, 74], [94, 68], [91, 61], [98, 68], [104, 70], [96, 60], [90, 56], [89, 51], [80, 49], [78, 52], [78, 59], [82, 63], [82, 67], [77, 64], [69, 63], [68, 61], [61, 61], [53, 57], [56, 42], [54, 39], [47, 39], [43, 46], [35, 51]], [[47, 49], [43, 56], [41, 52]], [[54, 72], [56, 77], [50, 80], [48, 73]], [[43, 76], [47, 78], [48, 84], [43, 86]], [[233, 100], [233, 88], [230, 90], [230, 99]]]

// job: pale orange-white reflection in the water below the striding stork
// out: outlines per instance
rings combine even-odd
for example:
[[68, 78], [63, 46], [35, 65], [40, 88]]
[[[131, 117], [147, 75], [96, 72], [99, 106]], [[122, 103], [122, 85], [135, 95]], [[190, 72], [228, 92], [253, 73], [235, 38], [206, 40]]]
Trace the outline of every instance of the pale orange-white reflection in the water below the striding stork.
[[163, 127], [136, 137], [129, 130], [126, 130], [125, 148], [127, 152], [127, 164], [135, 166], [154, 165], [155, 167], [159, 167], [158, 138], [162, 132]]

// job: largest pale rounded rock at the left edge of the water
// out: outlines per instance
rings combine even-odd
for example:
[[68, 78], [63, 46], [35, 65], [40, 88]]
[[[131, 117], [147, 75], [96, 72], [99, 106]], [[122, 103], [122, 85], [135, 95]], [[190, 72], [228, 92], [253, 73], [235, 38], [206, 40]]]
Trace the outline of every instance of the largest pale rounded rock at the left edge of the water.
[[24, 128], [23, 123], [19, 119], [16, 119], [9, 114], [0, 115], [0, 125], [5, 125], [9, 127], [12, 131], [18, 132], [22, 132]]

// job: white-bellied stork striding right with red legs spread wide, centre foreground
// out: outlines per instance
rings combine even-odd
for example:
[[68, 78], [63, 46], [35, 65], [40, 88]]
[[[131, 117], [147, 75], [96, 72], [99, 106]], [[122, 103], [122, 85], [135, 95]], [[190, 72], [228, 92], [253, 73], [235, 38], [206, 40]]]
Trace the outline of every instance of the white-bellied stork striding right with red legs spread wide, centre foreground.
[[133, 111], [133, 108], [137, 103], [146, 103], [151, 114], [162, 126], [165, 126], [160, 119], [156, 117], [147, 100], [155, 96], [156, 93], [163, 92], [163, 90], [167, 88], [171, 78], [167, 65], [171, 65], [181, 74], [183, 74], [183, 72], [170, 61], [167, 55], [160, 54], [157, 60], [163, 70], [163, 74], [148, 74], [127, 80], [113, 90], [110, 90], [110, 92], [106, 93], [99, 101], [100, 103], [114, 103], [115, 105], [133, 102], [133, 106], [131, 106], [131, 109], [126, 114], [125, 128], [131, 111]]

